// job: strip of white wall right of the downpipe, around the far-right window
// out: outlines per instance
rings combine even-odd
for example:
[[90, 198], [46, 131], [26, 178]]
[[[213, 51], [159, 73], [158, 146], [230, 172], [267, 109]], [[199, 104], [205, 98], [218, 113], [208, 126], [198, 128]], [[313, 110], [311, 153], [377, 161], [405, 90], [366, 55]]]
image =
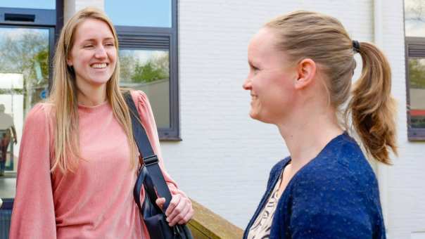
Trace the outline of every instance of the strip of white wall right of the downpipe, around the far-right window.
[[[402, 1], [383, 6], [383, 50], [393, 67], [393, 94], [398, 100], [399, 157], [388, 167], [388, 233], [391, 238], [425, 238], [425, 143], [407, 141], [405, 49]], [[412, 235], [413, 236], [413, 235]], [[419, 233], [414, 234], [419, 238]]]

